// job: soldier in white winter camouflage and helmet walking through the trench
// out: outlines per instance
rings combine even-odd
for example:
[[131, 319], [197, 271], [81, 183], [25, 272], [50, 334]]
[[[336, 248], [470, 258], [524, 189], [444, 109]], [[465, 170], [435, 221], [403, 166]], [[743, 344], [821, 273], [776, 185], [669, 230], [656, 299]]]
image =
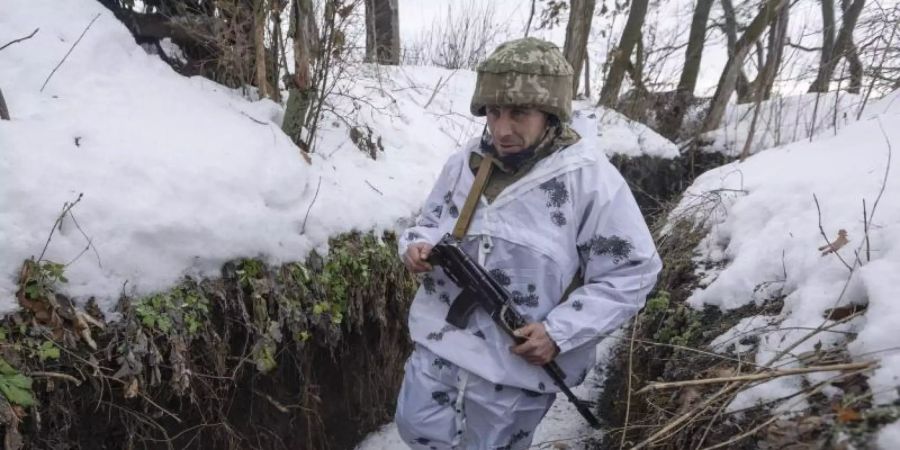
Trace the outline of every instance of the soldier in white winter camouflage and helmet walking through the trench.
[[[396, 411], [412, 448], [528, 448], [559, 390], [540, 366], [555, 358], [569, 386], [581, 383], [595, 344], [637, 313], [656, 282], [661, 263], [631, 191], [568, 125], [572, 76], [549, 42], [500, 45], [478, 66], [472, 97], [485, 131], [449, 158], [400, 238], [404, 263], [424, 274]], [[483, 196], [460, 211], [482, 166], [493, 169]], [[529, 322], [517, 330], [520, 345], [481, 310], [464, 329], [445, 320], [460, 289], [427, 257], [469, 213], [461, 246]]]

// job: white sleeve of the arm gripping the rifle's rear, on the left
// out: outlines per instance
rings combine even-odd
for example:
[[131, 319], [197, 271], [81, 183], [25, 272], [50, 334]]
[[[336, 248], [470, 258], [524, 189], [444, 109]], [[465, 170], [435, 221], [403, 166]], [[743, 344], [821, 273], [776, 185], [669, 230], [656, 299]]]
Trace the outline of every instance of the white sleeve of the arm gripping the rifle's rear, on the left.
[[455, 179], [453, 175], [457, 171], [457, 161], [458, 158], [454, 155], [444, 164], [443, 170], [431, 188], [431, 193], [425, 199], [425, 205], [422, 206], [422, 210], [416, 218], [416, 224], [403, 230], [397, 239], [397, 251], [401, 260], [410, 244], [419, 242], [437, 244], [443, 237], [440, 226], [441, 218], [446, 214], [451, 216], [459, 214], [458, 210], [454, 211], [457, 207], [451, 201]]

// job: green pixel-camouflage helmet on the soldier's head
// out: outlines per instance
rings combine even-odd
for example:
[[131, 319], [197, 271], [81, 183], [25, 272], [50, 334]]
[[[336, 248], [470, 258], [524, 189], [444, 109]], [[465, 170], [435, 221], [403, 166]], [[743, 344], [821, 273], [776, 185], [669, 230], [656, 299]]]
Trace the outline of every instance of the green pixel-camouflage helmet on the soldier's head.
[[484, 116], [488, 105], [527, 105], [567, 122], [572, 76], [572, 66], [553, 43], [532, 37], [508, 41], [478, 65], [470, 109]]

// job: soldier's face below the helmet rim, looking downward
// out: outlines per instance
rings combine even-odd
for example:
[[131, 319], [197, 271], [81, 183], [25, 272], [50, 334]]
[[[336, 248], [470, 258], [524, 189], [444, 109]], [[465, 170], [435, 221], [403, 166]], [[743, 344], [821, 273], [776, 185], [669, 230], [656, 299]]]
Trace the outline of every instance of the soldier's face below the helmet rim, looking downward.
[[525, 106], [488, 106], [488, 130], [501, 155], [521, 152], [534, 145], [547, 129], [547, 114]]

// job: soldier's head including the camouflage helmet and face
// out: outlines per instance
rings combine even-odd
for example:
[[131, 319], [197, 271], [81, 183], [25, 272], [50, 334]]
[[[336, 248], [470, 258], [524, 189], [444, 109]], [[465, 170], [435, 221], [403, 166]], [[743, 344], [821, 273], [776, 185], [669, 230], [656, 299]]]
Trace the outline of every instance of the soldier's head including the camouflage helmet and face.
[[536, 144], [547, 127], [572, 116], [572, 66], [556, 45], [536, 38], [501, 44], [478, 66], [471, 111], [487, 116], [501, 154]]

